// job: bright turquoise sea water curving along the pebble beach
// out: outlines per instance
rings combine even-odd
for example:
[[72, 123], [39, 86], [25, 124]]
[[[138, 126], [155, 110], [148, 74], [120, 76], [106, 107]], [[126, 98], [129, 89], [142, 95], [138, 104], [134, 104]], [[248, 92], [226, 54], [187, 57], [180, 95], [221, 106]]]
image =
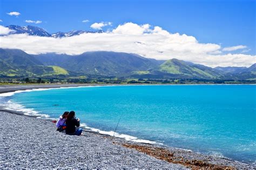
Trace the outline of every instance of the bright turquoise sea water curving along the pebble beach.
[[[74, 110], [86, 127], [235, 160], [256, 160], [256, 86], [100, 86], [15, 93], [6, 107], [58, 118]], [[45, 117], [45, 115], [43, 116]]]

